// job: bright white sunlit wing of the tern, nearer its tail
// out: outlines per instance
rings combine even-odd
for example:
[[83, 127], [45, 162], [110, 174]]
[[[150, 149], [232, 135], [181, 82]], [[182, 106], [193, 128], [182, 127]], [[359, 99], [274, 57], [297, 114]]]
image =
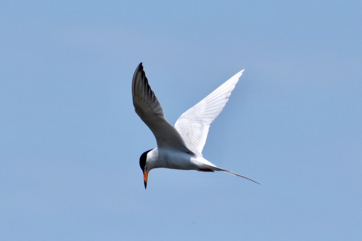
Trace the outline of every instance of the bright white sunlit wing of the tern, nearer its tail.
[[177, 119], [176, 130], [184, 139], [188, 149], [197, 156], [202, 156], [201, 152], [206, 142], [210, 124], [224, 108], [243, 71], [241, 70], [228, 79]]

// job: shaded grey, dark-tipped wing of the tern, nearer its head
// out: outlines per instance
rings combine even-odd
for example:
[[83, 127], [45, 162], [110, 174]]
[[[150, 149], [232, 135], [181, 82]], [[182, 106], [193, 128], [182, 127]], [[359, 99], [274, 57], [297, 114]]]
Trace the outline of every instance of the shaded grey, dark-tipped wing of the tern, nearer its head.
[[165, 119], [163, 109], [155, 93], [153, 93], [150, 85], [148, 85], [142, 63], [138, 65], [133, 76], [132, 97], [137, 115], [155, 135], [158, 147], [167, 147], [193, 154], [186, 147], [181, 135]]

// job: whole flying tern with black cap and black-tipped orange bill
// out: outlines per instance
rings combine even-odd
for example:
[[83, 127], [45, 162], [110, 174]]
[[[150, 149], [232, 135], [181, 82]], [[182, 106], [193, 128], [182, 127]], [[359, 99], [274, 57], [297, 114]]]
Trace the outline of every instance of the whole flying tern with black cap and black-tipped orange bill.
[[[248, 177], [216, 167], [201, 152], [206, 142], [212, 121], [219, 115], [229, 99], [231, 91], [244, 70], [235, 74], [195, 106], [183, 113], [172, 126], [152, 91], [140, 63], [133, 75], [132, 99], [137, 115], [155, 135], [157, 147], [143, 152], [139, 165], [143, 171], [144, 188], [148, 172], [153, 168], [197, 170], [201, 172], [222, 171], [251, 180]], [[254, 180], [251, 180], [256, 182]], [[256, 182], [259, 184], [258, 182]]]

